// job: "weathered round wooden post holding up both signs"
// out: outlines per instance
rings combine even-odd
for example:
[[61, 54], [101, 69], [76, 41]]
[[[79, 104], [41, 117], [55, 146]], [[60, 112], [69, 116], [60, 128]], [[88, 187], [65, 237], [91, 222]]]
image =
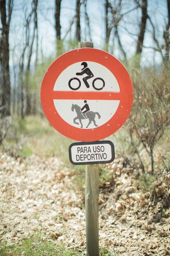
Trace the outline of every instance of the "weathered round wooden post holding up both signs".
[[[84, 47], [93, 48], [93, 43], [78, 43], [78, 48]], [[87, 256], [99, 256], [99, 164], [85, 169], [85, 223]]]

